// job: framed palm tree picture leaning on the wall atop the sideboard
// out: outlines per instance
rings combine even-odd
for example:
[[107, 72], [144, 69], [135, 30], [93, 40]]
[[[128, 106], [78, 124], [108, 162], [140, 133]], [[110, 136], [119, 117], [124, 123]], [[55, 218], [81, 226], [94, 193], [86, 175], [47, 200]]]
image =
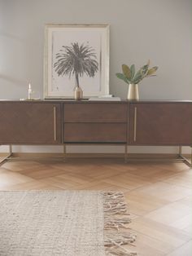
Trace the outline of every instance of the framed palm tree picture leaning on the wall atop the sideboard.
[[46, 24], [44, 98], [73, 99], [109, 93], [109, 24]]

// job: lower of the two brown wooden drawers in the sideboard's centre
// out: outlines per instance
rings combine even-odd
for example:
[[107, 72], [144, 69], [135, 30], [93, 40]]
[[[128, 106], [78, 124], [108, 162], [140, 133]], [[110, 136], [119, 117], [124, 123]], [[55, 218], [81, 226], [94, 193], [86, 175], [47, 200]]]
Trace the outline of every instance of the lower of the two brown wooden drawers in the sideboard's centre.
[[65, 123], [64, 143], [126, 143], [126, 124]]

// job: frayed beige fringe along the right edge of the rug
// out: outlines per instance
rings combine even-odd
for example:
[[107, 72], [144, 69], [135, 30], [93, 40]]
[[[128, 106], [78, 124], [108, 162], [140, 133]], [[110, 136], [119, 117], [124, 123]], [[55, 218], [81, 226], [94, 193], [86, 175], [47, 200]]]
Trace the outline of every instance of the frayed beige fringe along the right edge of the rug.
[[[136, 252], [125, 249], [123, 245], [133, 245], [136, 235], [124, 233], [122, 228], [129, 228], [126, 224], [131, 222], [129, 217], [116, 218], [116, 215], [129, 215], [127, 205], [124, 203], [122, 192], [103, 192], [104, 198], [104, 236], [106, 255], [135, 256]], [[134, 246], [134, 245], [133, 245]]]

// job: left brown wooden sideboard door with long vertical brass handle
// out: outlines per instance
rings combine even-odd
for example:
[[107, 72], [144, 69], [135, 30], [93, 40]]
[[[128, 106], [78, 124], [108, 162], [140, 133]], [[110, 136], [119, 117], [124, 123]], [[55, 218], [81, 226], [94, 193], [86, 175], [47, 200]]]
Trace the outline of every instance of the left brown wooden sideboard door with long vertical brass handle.
[[0, 103], [0, 143], [61, 143], [61, 104]]

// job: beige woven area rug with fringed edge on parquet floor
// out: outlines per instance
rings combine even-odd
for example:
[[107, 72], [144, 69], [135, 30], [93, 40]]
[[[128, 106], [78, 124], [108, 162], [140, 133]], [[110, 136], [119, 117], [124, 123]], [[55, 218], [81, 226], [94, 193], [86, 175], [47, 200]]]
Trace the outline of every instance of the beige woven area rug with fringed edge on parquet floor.
[[0, 192], [0, 255], [136, 255], [129, 222], [121, 192]]

